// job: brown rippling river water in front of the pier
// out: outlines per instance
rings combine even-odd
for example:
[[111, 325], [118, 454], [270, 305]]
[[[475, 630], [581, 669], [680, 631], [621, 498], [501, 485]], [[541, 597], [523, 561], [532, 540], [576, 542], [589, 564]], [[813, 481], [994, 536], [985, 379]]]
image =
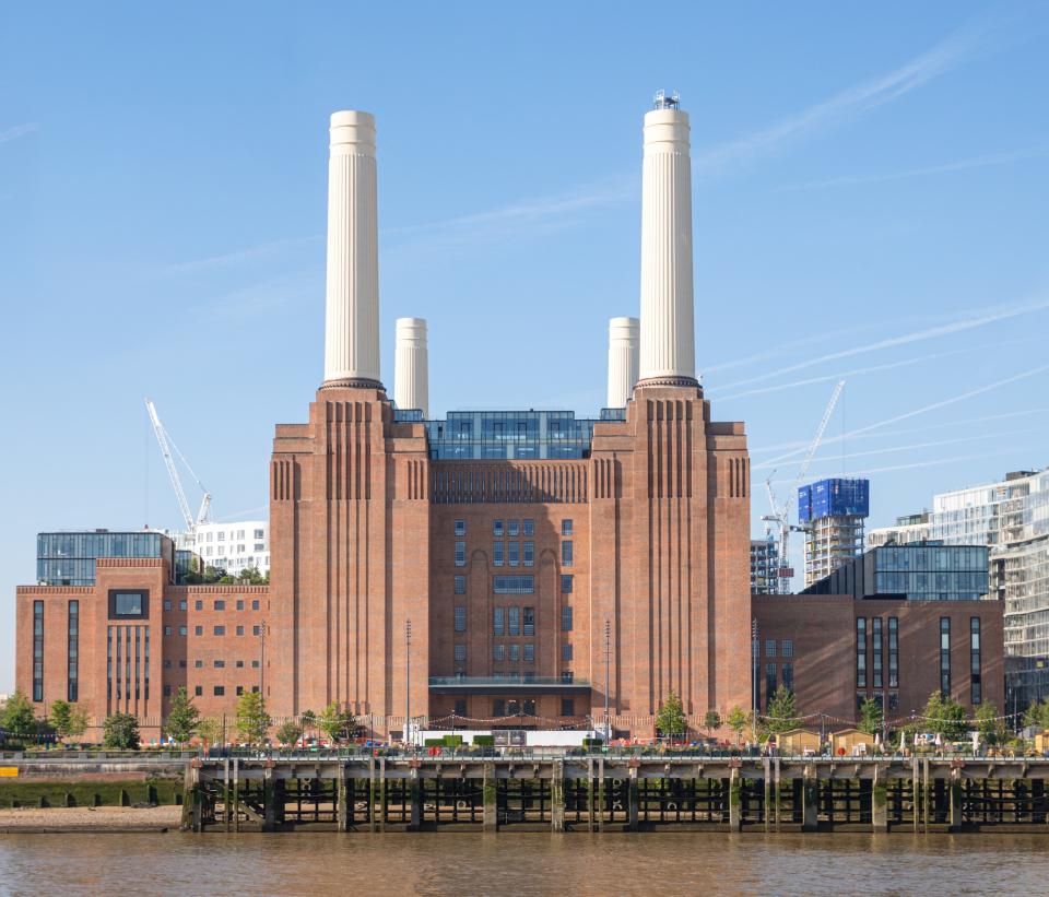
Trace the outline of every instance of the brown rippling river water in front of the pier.
[[1049, 835], [5, 835], [0, 893], [1026, 896]]

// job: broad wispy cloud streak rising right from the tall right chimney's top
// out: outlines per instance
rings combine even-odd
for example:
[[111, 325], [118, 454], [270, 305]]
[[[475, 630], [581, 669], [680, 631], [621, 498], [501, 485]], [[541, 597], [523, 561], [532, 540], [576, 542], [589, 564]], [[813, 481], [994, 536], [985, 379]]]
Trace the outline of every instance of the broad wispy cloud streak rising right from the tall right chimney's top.
[[694, 165], [698, 172], [716, 173], [898, 99], [975, 56], [986, 31], [976, 25], [963, 27], [886, 74], [841, 91], [770, 128], [699, 153]]

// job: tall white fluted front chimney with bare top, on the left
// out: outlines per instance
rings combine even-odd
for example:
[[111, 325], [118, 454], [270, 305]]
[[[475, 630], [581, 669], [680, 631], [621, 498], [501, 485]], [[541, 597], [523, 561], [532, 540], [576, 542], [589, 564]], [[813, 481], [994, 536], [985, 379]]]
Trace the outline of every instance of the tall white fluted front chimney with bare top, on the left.
[[378, 387], [379, 256], [375, 119], [331, 116], [325, 383]]

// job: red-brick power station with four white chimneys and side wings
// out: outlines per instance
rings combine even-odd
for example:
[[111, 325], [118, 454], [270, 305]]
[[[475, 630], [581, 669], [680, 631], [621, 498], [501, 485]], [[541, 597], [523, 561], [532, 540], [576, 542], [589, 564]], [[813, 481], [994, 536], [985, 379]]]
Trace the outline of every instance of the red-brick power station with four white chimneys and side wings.
[[755, 683], [763, 706], [783, 684], [800, 710], [852, 719], [882, 656], [886, 707], [911, 712], [941, 687], [943, 619], [948, 691], [1002, 706], [999, 602], [752, 600], [743, 424], [714, 420], [696, 378], [689, 126], [675, 101], [645, 116], [640, 314], [609, 323], [608, 408], [592, 420], [431, 417], [426, 322], [411, 317], [397, 321], [391, 396], [367, 113], [331, 116], [328, 178], [323, 380], [302, 423], [276, 425], [270, 583], [184, 585], [156, 532], [40, 534], [37, 585], [16, 602], [17, 687], [39, 716], [76, 700], [94, 725], [131, 712], [155, 739], [186, 686], [204, 716], [259, 691], [276, 720], [335, 703], [377, 736], [409, 718], [556, 729], [605, 712], [616, 734], [650, 736], [671, 692], [699, 730], [708, 710], [750, 709]]

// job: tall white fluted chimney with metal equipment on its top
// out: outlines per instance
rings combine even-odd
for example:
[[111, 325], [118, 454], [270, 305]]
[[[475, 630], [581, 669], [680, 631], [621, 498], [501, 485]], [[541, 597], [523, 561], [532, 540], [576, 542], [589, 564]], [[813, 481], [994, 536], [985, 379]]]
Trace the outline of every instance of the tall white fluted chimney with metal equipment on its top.
[[640, 381], [696, 385], [688, 114], [662, 91], [645, 116]]

